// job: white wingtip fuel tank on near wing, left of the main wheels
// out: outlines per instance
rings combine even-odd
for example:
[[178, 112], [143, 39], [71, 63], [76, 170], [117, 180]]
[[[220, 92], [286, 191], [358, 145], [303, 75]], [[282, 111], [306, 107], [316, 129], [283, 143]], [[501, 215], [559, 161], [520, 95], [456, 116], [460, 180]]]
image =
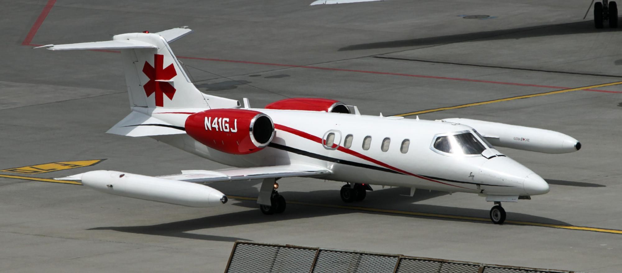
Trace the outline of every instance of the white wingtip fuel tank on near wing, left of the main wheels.
[[227, 202], [225, 194], [202, 184], [128, 172], [90, 171], [81, 174], [81, 181], [106, 194], [186, 207], [213, 207]]

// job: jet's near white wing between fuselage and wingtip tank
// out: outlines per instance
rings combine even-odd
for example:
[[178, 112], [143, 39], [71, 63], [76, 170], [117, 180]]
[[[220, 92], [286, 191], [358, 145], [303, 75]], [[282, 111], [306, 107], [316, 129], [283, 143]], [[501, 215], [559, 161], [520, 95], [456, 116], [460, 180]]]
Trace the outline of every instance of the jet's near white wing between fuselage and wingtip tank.
[[158, 178], [193, 183], [208, 183], [264, 178], [322, 176], [331, 173], [330, 170], [318, 166], [290, 164], [254, 168], [221, 169], [216, 171], [188, 170], [182, 171], [181, 174], [158, 176]]

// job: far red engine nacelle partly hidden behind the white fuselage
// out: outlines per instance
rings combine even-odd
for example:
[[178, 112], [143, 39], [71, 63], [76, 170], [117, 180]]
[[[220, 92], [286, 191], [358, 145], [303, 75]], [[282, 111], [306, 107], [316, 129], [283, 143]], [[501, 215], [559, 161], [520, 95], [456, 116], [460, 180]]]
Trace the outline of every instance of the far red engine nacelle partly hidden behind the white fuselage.
[[307, 110], [350, 114], [350, 109], [343, 102], [334, 99], [316, 99], [311, 97], [295, 97], [282, 99], [266, 105], [266, 109]]

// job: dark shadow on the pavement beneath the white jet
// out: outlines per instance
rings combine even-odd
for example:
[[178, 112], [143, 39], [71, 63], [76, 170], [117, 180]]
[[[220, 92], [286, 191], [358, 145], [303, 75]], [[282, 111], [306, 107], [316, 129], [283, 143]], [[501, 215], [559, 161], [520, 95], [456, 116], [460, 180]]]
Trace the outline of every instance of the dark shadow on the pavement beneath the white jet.
[[[457, 215], [460, 217], [478, 217], [488, 218], [488, 210], [480, 210], [473, 208], [459, 208], [459, 207], [446, 207], [439, 205], [422, 205], [413, 204], [414, 202], [432, 199], [446, 195], [446, 192], [420, 190], [415, 192], [413, 197], [399, 196], [399, 194], [406, 194], [407, 189], [404, 188], [391, 188], [383, 190], [374, 190], [368, 194], [368, 199], [363, 202], [353, 204], [343, 204], [339, 197], [339, 190], [315, 190], [312, 192], [282, 192], [282, 194], [291, 200], [297, 200], [299, 202], [309, 202], [313, 204], [322, 205], [351, 205], [356, 207], [370, 207], [370, 208], [384, 208], [389, 210], [404, 210], [410, 212], [421, 213], [434, 213], [440, 215]], [[322, 196], [323, 200], [317, 200], [314, 197]], [[333, 197], [332, 197], [333, 196]], [[399, 197], [399, 198], [398, 198]], [[332, 208], [332, 207], [318, 207], [315, 205], [297, 205], [288, 204], [287, 210], [284, 213], [276, 215], [263, 215], [259, 212], [258, 205], [254, 200], [239, 200], [239, 202], [233, 205], [245, 208], [254, 208], [253, 210], [244, 210], [242, 212], [226, 213], [221, 215], [213, 215], [208, 217], [201, 217], [189, 220], [182, 220], [177, 222], [162, 223], [157, 225], [147, 226], [106, 226], [98, 228], [90, 228], [89, 230], [114, 230], [126, 233], [137, 233], [144, 235], [158, 235], [158, 236], [172, 236], [177, 238], [188, 239], [202, 239], [208, 241], [236, 241], [244, 240], [251, 241], [244, 238], [226, 237], [226, 236], [213, 236], [213, 235], [201, 235], [195, 233], [188, 233], [188, 231], [205, 230], [209, 228], [222, 228], [228, 226], [239, 226], [249, 224], [261, 224], [271, 223], [277, 221], [296, 220], [303, 218], [315, 218], [324, 217], [330, 215], [340, 215], [348, 213], [367, 213], [383, 215], [387, 213], [383, 212], [369, 212], [364, 210], [355, 210], [348, 208]], [[432, 218], [417, 215], [394, 215], [394, 217], [411, 217], [411, 218]], [[538, 223], [550, 223], [555, 225], [570, 225], [568, 223], [560, 222], [550, 218], [536, 217], [534, 215], [527, 215], [524, 213], [508, 212], [508, 218], [516, 221], [526, 222], [538, 222]], [[439, 220], [452, 221], [452, 222], [473, 222], [466, 219], [454, 219], [454, 218], [438, 218]], [[490, 224], [489, 222], [481, 222], [483, 224]]]

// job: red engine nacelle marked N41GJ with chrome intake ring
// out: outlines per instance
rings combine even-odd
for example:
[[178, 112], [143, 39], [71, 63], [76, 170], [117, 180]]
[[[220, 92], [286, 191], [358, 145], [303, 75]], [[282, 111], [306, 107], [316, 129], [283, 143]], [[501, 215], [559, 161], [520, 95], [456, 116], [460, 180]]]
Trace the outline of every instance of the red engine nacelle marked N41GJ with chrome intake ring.
[[205, 110], [188, 116], [185, 127], [190, 137], [230, 154], [254, 153], [274, 137], [272, 119], [253, 110]]

